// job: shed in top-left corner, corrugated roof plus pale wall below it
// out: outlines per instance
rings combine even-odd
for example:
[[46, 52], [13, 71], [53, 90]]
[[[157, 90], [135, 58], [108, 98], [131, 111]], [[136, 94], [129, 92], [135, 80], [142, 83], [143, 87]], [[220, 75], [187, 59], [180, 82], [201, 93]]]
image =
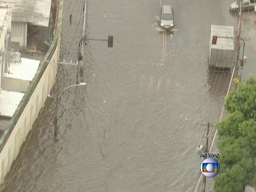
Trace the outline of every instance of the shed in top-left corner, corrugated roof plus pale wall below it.
[[51, 0], [0, 0], [0, 4], [13, 8], [12, 41], [19, 43], [19, 50], [26, 51], [27, 44], [36, 47], [31, 34], [48, 27]]

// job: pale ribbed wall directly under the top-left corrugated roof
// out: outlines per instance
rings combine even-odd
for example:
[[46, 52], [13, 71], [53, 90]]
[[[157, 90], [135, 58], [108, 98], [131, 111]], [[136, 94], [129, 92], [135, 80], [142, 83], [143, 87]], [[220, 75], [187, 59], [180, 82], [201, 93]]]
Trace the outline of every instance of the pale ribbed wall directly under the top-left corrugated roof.
[[12, 22], [12, 42], [19, 42], [19, 50], [27, 46], [27, 23]]

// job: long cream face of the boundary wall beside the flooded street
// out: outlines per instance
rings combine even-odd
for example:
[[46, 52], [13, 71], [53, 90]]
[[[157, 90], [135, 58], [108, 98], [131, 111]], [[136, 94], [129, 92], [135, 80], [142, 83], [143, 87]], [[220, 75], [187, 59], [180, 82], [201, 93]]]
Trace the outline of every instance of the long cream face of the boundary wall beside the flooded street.
[[[57, 62], [59, 60], [60, 36], [56, 50], [50, 61]], [[57, 75], [57, 64], [48, 64], [43, 76], [41, 77], [36, 89], [33, 91], [24, 111], [17, 121], [12, 133], [9, 135], [5, 146], [0, 152], [0, 184], [3, 183], [5, 175], [12, 166], [12, 162], [17, 158], [21, 145], [26, 140], [28, 132], [31, 130], [34, 121], [38, 117], [40, 109], [43, 107], [47, 95], [55, 83]]]

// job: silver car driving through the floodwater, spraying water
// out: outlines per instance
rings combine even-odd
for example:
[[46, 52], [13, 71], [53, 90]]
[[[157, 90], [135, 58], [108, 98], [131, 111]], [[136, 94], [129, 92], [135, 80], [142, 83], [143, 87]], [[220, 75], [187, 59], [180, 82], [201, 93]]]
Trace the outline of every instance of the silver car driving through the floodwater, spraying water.
[[171, 5], [162, 5], [160, 11], [160, 27], [163, 29], [173, 29], [173, 19], [173, 7]]

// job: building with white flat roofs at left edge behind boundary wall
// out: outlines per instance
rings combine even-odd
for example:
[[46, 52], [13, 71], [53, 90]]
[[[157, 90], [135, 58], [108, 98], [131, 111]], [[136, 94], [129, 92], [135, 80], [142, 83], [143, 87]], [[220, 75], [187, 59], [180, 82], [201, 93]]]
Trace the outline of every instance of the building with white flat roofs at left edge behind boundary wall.
[[0, 130], [16, 111], [38, 69], [39, 60], [21, 57], [12, 47], [12, 7], [0, 7]]

